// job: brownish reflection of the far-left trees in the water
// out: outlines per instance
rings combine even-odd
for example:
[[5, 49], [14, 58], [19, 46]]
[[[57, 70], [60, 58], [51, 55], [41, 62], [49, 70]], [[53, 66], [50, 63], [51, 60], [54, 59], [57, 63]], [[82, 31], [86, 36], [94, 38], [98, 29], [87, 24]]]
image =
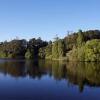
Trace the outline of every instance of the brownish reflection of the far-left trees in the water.
[[4, 62], [0, 63], [0, 72], [5, 75], [9, 74], [13, 77], [25, 77], [25, 66], [24, 62]]

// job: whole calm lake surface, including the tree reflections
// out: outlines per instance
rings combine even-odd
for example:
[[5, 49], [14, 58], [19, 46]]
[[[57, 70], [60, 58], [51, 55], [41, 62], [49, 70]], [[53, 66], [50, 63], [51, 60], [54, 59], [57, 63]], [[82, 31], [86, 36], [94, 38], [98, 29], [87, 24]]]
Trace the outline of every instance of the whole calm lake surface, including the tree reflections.
[[100, 64], [0, 60], [0, 100], [100, 100]]

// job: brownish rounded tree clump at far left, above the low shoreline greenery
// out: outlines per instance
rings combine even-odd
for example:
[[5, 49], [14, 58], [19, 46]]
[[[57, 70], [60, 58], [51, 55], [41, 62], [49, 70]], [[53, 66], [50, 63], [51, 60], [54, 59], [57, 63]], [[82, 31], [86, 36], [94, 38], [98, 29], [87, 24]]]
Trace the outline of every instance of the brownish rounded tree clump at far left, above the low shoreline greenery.
[[[12, 40], [10, 42], [4, 42], [0, 45], [0, 51], [5, 53], [6, 57], [16, 58], [24, 56], [26, 52], [27, 42], [26, 40]], [[5, 56], [4, 56], [5, 57]]]

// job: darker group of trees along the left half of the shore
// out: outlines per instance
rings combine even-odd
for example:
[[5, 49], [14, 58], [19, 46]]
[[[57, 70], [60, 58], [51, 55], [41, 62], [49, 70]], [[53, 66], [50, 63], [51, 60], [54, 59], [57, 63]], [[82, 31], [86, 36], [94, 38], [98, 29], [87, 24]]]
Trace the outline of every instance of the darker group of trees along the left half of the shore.
[[0, 43], [0, 58], [38, 58], [39, 48], [47, 46], [48, 42], [41, 38], [32, 38], [29, 41], [25, 39], [14, 39]]

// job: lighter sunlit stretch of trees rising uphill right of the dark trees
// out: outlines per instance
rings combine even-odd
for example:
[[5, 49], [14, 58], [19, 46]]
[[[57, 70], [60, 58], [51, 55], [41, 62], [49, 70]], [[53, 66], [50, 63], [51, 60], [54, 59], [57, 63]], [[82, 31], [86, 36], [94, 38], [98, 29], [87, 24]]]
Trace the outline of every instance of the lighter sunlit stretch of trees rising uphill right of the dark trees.
[[100, 31], [74, 32], [63, 39], [55, 38], [39, 49], [40, 58], [67, 61], [100, 61]]

